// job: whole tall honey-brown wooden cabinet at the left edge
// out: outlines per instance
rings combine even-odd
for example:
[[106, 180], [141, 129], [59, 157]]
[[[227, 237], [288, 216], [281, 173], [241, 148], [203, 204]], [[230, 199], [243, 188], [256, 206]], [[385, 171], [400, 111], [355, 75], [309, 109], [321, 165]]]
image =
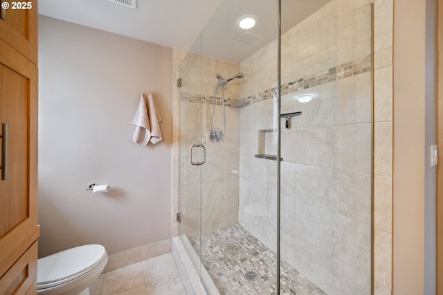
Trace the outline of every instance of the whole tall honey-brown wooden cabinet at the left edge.
[[0, 19], [0, 294], [37, 292], [37, 1], [30, 2]]

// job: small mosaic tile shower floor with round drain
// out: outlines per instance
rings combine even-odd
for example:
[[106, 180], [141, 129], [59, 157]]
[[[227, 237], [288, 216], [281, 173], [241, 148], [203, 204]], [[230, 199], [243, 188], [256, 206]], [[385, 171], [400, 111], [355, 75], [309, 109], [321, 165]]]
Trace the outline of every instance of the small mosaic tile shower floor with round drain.
[[[235, 225], [198, 238], [190, 239], [201, 262], [210, 274], [220, 294], [275, 294], [276, 256], [262, 242]], [[248, 280], [248, 271], [257, 273]], [[323, 295], [321, 289], [287, 262], [280, 264], [280, 294]]]

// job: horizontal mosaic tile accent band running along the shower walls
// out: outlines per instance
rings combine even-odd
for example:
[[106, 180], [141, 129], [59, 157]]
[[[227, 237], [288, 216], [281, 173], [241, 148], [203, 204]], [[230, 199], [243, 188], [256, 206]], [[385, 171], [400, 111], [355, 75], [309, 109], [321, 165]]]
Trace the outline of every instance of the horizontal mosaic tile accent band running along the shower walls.
[[[334, 82], [344, 78], [351, 77], [353, 75], [359, 75], [361, 73], [366, 73], [372, 70], [372, 55], [366, 55], [365, 57], [357, 58], [351, 62], [345, 62], [344, 64], [339, 64], [329, 69], [319, 71], [312, 75], [307, 75], [306, 77], [293, 80], [286, 84], [282, 84], [280, 88], [280, 94], [282, 96], [309, 89], [311, 87], [316, 87], [329, 82]], [[277, 96], [277, 87], [272, 89], [267, 89], [263, 92], [254, 94], [253, 96], [248, 96], [246, 98], [241, 98], [240, 100], [235, 99], [225, 99], [225, 105], [228, 107], [246, 107], [247, 105], [252, 105], [253, 103], [260, 102], [263, 100], [269, 100]], [[202, 102], [202, 103], [213, 103], [214, 96], [200, 96], [199, 94], [193, 93], [181, 93], [180, 100], [189, 102]], [[221, 105], [221, 98], [216, 98], [217, 105]]]

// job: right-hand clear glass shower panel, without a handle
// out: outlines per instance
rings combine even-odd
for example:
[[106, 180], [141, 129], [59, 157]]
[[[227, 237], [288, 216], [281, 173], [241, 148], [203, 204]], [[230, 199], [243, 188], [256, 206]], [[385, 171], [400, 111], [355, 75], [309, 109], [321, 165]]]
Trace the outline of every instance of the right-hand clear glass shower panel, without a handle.
[[300, 276], [280, 293], [371, 294], [372, 3], [282, 0], [281, 17], [281, 113], [302, 115], [281, 122], [280, 267]]

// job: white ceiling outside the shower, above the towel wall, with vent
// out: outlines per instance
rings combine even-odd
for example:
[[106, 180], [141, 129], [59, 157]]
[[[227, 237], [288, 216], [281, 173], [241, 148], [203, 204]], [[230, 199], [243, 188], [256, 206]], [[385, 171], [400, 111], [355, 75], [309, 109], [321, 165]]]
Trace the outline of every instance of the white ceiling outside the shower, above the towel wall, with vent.
[[188, 50], [221, 0], [138, 0], [128, 8], [109, 0], [39, 0], [40, 15], [155, 44]]

